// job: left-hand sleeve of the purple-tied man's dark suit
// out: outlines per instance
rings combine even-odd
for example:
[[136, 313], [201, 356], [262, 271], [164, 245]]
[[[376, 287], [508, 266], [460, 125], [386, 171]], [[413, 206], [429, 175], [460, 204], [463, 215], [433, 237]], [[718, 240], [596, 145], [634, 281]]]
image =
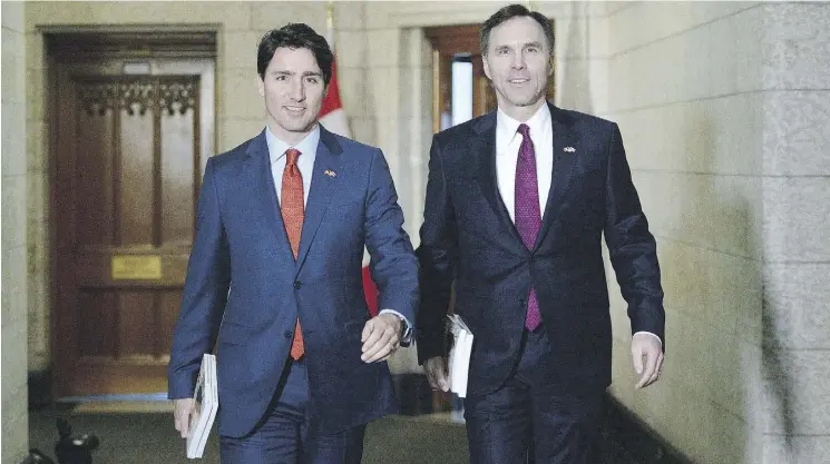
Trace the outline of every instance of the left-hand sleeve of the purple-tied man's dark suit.
[[416, 254], [421, 265], [421, 308], [418, 313], [418, 362], [443, 355], [446, 316], [455, 278], [458, 236], [443, 159], [437, 137], [429, 155], [427, 199], [421, 244]]

